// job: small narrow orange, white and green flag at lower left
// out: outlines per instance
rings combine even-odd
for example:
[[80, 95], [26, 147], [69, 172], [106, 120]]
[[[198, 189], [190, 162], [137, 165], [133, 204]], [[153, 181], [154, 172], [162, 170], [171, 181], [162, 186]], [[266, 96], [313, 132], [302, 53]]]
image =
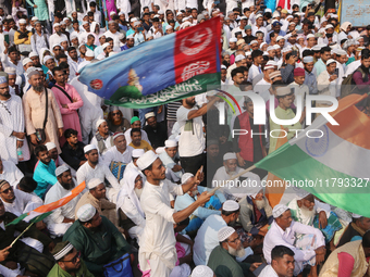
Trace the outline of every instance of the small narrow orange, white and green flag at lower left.
[[85, 181], [79, 184], [77, 187], [75, 187], [73, 190], [71, 190], [70, 193], [67, 193], [65, 197], [61, 198], [60, 200], [41, 205], [28, 213], [22, 214], [18, 217], [16, 217], [13, 222], [11, 222], [9, 225], [15, 225], [21, 221], [27, 222], [27, 223], [37, 223], [42, 221], [45, 217], [49, 216], [53, 210], [65, 205], [67, 202], [70, 202], [72, 199], [77, 197], [83, 190], [85, 189]]

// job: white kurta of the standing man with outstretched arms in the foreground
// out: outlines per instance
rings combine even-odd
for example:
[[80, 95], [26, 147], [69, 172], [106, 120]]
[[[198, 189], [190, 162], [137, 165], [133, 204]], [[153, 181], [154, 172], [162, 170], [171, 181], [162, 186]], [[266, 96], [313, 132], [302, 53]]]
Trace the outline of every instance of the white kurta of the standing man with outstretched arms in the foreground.
[[141, 270], [151, 269], [151, 276], [169, 277], [177, 261], [173, 229], [175, 210], [171, 207], [170, 193], [182, 196], [184, 192], [182, 186], [166, 179], [161, 180], [159, 186], [146, 181], [140, 199], [146, 226], [138, 260]]

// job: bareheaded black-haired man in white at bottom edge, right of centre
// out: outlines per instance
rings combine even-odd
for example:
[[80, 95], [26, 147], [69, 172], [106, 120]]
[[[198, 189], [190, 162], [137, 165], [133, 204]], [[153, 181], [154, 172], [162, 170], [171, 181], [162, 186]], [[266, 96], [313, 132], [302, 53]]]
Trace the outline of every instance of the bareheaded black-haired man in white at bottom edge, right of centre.
[[271, 251], [271, 264], [266, 266], [258, 277], [293, 277], [294, 252], [284, 245], [276, 245]]

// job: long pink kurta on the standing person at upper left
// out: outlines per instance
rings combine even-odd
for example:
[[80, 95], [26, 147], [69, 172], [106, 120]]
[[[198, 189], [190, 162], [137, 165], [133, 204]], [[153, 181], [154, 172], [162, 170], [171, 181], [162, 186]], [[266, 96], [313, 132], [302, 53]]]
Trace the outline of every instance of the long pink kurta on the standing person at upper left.
[[[76, 131], [78, 131], [78, 135], [77, 135], [78, 141], [83, 141], [77, 110], [84, 105], [84, 101], [82, 100], [77, 90], [73, 86], [65, 84], [65, 87], [62, 89], [64, 89], [65, 92], [69, 93], [72, 100], [77, 99], [77, 102], [74, 102], [74, 103], [71, 103], [71, 100], [60, 89], [55, 87], [60, 87], [60, 86], [55, 84], [55, 86], [52, 87], [51, 90], [55, 96], [60, 112], [62, 114], [62, 119], [63, 119], [63, 125], [64, 125], [63, 130], [66, 130], [69, 128], [75, 129]], [[69, 108], [63, 108], [62, 104], [66, 104]], [[64, 136], [62, 136], [59, 139], [59, 143], [62, 147], [64, 142], [65, 142], [65, 138]]]

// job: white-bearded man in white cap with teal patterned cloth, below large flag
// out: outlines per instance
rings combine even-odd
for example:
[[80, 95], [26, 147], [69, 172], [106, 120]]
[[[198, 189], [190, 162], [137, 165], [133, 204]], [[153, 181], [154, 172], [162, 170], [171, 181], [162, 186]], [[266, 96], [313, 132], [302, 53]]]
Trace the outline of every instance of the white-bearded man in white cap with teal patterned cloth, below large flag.
[[296, 197], [287, 204], [295, 222], [319, 228], [325, 236], [329, 243], [335, 231], [342, 229], [337, 216], [330, 211], [330, 205], [313, 198], [313, 194], [306, 190], [299, 190]]

